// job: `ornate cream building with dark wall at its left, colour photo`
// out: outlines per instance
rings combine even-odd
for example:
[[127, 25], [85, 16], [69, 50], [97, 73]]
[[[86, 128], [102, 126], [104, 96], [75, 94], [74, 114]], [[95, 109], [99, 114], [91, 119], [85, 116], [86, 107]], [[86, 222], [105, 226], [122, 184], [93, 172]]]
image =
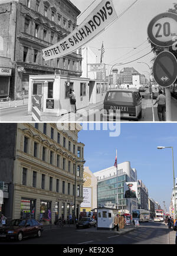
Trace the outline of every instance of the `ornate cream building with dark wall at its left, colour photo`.
[[78, 218], [84, 183], [84, 144], [77, 142], [81, 125], [1, 124], [0, 128], [6, 144], [4, 150], [1, 146], [0, 180], [9, 186], [2, 213], [54, 222], [74, 215], [76, 198]]

